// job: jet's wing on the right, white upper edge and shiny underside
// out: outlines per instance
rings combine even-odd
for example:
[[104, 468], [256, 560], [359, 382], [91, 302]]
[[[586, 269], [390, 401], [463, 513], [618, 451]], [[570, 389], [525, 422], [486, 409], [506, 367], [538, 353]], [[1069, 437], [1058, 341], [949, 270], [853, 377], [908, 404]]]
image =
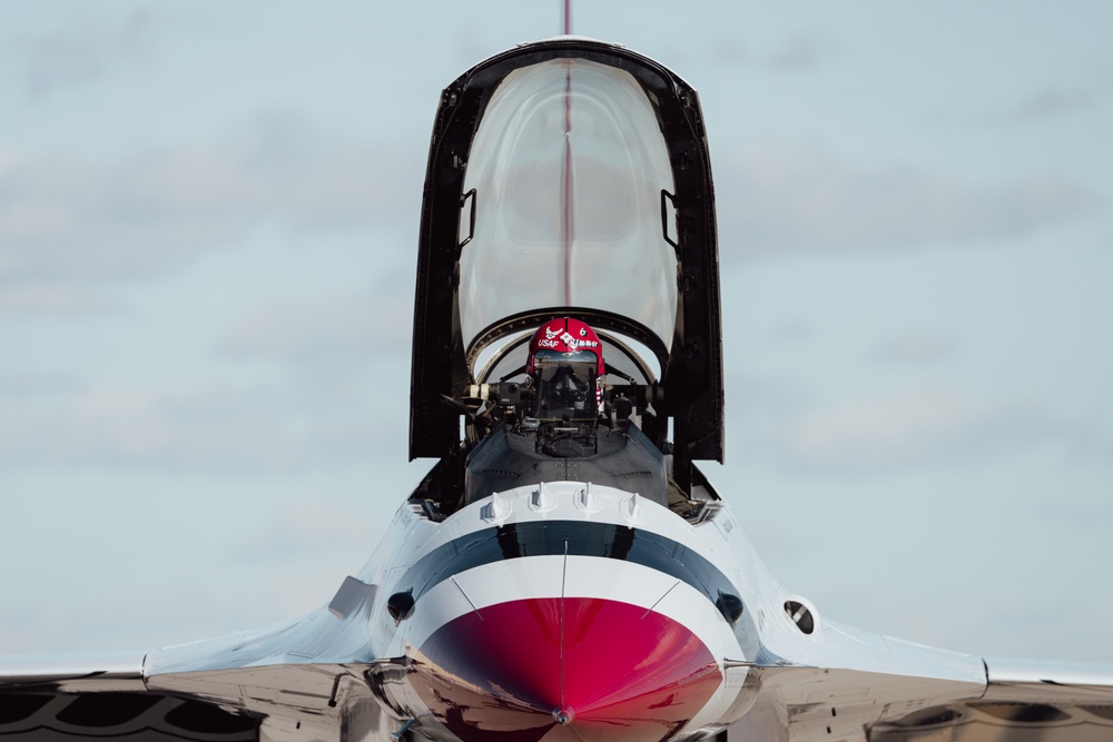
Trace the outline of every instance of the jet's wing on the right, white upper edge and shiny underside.
[[823, 645], [756, 667], [731, 742], [1109, 742], [1113, 666], [972, 657], [828, 622]]

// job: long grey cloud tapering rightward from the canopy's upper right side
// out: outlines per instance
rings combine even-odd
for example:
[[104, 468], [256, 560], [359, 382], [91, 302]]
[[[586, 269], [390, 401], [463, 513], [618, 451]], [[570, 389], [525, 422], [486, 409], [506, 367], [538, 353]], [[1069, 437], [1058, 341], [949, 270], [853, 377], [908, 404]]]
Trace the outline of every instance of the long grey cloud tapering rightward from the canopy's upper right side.
[[972, 186], [910, 168], [867, 170], [816, 148], [766, 144], [716, 169], [723, 258], [838, 254], [1015, 237], [1085, 214], [1082, 186], [1033, 177]]

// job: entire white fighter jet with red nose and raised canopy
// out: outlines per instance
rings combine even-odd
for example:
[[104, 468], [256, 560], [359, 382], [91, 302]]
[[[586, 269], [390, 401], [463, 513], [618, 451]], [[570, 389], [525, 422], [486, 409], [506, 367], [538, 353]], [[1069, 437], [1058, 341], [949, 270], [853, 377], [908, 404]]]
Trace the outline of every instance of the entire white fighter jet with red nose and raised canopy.
[[435, 463], [367, 565], [268, 629], [0, 659], [0, 739], [1113, 739], [1113, 669], [839, 624], [701, 473], [715, 199], [677, 75], [570, 36], [466, 71], [418, 250], [410, 455]]

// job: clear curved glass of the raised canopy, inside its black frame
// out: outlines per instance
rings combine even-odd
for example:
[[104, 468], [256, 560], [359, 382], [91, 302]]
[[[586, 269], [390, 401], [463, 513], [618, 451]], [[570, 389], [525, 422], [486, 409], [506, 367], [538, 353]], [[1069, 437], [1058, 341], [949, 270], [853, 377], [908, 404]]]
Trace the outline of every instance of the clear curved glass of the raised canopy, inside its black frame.
[[472, 189], [461, 207], [465, 346], [505, 317], [549, 307], [612, 311], [671, 346], [677, 257], [664, 230], [671, 239], [676, 226], [662, 190], [674, 191], [672, 170], [631, 75], [553, 59], [506, 76], [473, 140]]

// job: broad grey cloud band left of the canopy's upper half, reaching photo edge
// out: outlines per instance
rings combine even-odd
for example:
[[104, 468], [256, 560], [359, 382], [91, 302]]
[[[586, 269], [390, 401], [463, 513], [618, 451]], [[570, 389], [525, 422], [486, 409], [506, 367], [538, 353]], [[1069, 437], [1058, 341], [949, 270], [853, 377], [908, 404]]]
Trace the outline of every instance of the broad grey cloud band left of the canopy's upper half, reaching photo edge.
[[344, 230], [417, 220], [421, 156], [260, 116], [230, 141], [116, 162], [0, 148], [0, 281], [132, 278], [264, 225]]

